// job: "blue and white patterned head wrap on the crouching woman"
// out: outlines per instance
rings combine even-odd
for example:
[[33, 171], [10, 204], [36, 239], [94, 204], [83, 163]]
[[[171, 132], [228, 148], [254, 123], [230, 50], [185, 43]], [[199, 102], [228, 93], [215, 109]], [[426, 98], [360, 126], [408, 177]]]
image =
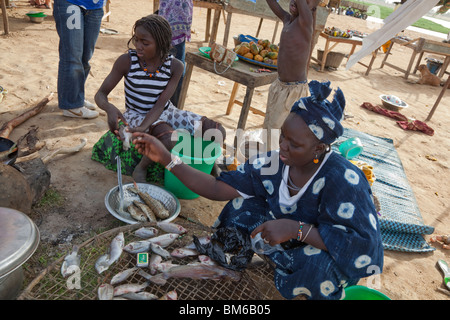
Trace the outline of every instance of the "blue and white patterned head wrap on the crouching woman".
[[291, 112], [302, 117], [320, 141], [331, 144], [344, 132], [340, 122], [344, 115], [344, 94], [338, 88], [333, 101], [329, 102], [327, 97], [332, 91], [329, 81], [313, 80], [309, 83], [309, 91], [311, 95], [295, 102]]

